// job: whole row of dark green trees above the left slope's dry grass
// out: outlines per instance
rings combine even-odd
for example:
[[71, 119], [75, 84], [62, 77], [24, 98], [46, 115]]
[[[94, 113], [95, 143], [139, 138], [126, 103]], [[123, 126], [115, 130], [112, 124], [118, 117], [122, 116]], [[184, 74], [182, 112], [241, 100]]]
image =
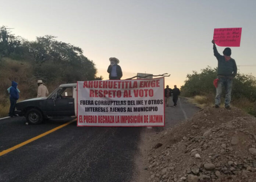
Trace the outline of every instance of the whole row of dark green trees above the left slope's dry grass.
[[[46, 35], [36, 37], [36, 41], [26, 41], [14, 36], [9, 28], [2, 26], [0, 60], [3, 57], [19, 60], [21, 64], [31, 63], [33, 73], [30, 77], [39, 75], [38, 79], [49, 82], [59, 80], [62, 83], [70, 83], [101, 78], [96, 77], [95, 64], [83, 55], [81, 48], [57, 41], [54, 36]], [[10, 69], [17, 72], [19, 65], [14, 64]]]

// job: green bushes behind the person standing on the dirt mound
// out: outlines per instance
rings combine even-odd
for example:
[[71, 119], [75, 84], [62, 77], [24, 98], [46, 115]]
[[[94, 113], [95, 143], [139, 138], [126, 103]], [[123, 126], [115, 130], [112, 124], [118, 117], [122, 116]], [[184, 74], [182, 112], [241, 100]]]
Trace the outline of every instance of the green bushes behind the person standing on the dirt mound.
[[[181, 86], [181, 95], [185, 97], [194, 97], [196, 103], [212, 105], [216, 89], [213, 86], [213, 80], [217, 77], [217, 68], [207, 67], [202, 69], [202, 73], [193, 71], [188, 74], [185, 84]], [[225, 97], [223, 90], [221, 102]], [[203, 99], [204, 98], [204, 99]], [[231, 93], [232, 105], [243, 109], [249, 114], [256, 116], [256, 78], [252, 75], [237, 74], [233, 79]]]

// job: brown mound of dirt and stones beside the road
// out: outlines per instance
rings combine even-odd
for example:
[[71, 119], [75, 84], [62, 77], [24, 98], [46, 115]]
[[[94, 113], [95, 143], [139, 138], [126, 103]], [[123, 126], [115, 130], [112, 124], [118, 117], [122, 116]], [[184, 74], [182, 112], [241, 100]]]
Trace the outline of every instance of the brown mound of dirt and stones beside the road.
[[149, 140], [150, 182], [256, 181], [256, 118], [240, 109], [207, 107]]

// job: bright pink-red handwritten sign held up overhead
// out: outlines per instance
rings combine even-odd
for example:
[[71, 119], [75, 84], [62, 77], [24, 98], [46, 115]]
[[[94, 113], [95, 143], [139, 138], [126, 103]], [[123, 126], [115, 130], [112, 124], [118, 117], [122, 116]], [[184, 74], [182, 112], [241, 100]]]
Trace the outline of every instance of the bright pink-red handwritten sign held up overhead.
[[222, 47], [240, 47], [242, 28], [214, 29], [213, 40]]

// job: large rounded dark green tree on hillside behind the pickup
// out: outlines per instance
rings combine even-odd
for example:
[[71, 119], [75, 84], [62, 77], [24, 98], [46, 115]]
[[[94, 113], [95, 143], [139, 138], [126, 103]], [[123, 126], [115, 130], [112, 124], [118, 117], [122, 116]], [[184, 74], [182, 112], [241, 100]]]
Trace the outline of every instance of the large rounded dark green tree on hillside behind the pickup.
[[[96, 79], [95, 64], [83, 55], [83, 50], [54, 36], [36, 37], [36, 41], [25, 42], [28, 52], [35, 61], [36, 74], [49, 81], [64, 82]], [[97, 78], [102, 79], [102, 78]]]

